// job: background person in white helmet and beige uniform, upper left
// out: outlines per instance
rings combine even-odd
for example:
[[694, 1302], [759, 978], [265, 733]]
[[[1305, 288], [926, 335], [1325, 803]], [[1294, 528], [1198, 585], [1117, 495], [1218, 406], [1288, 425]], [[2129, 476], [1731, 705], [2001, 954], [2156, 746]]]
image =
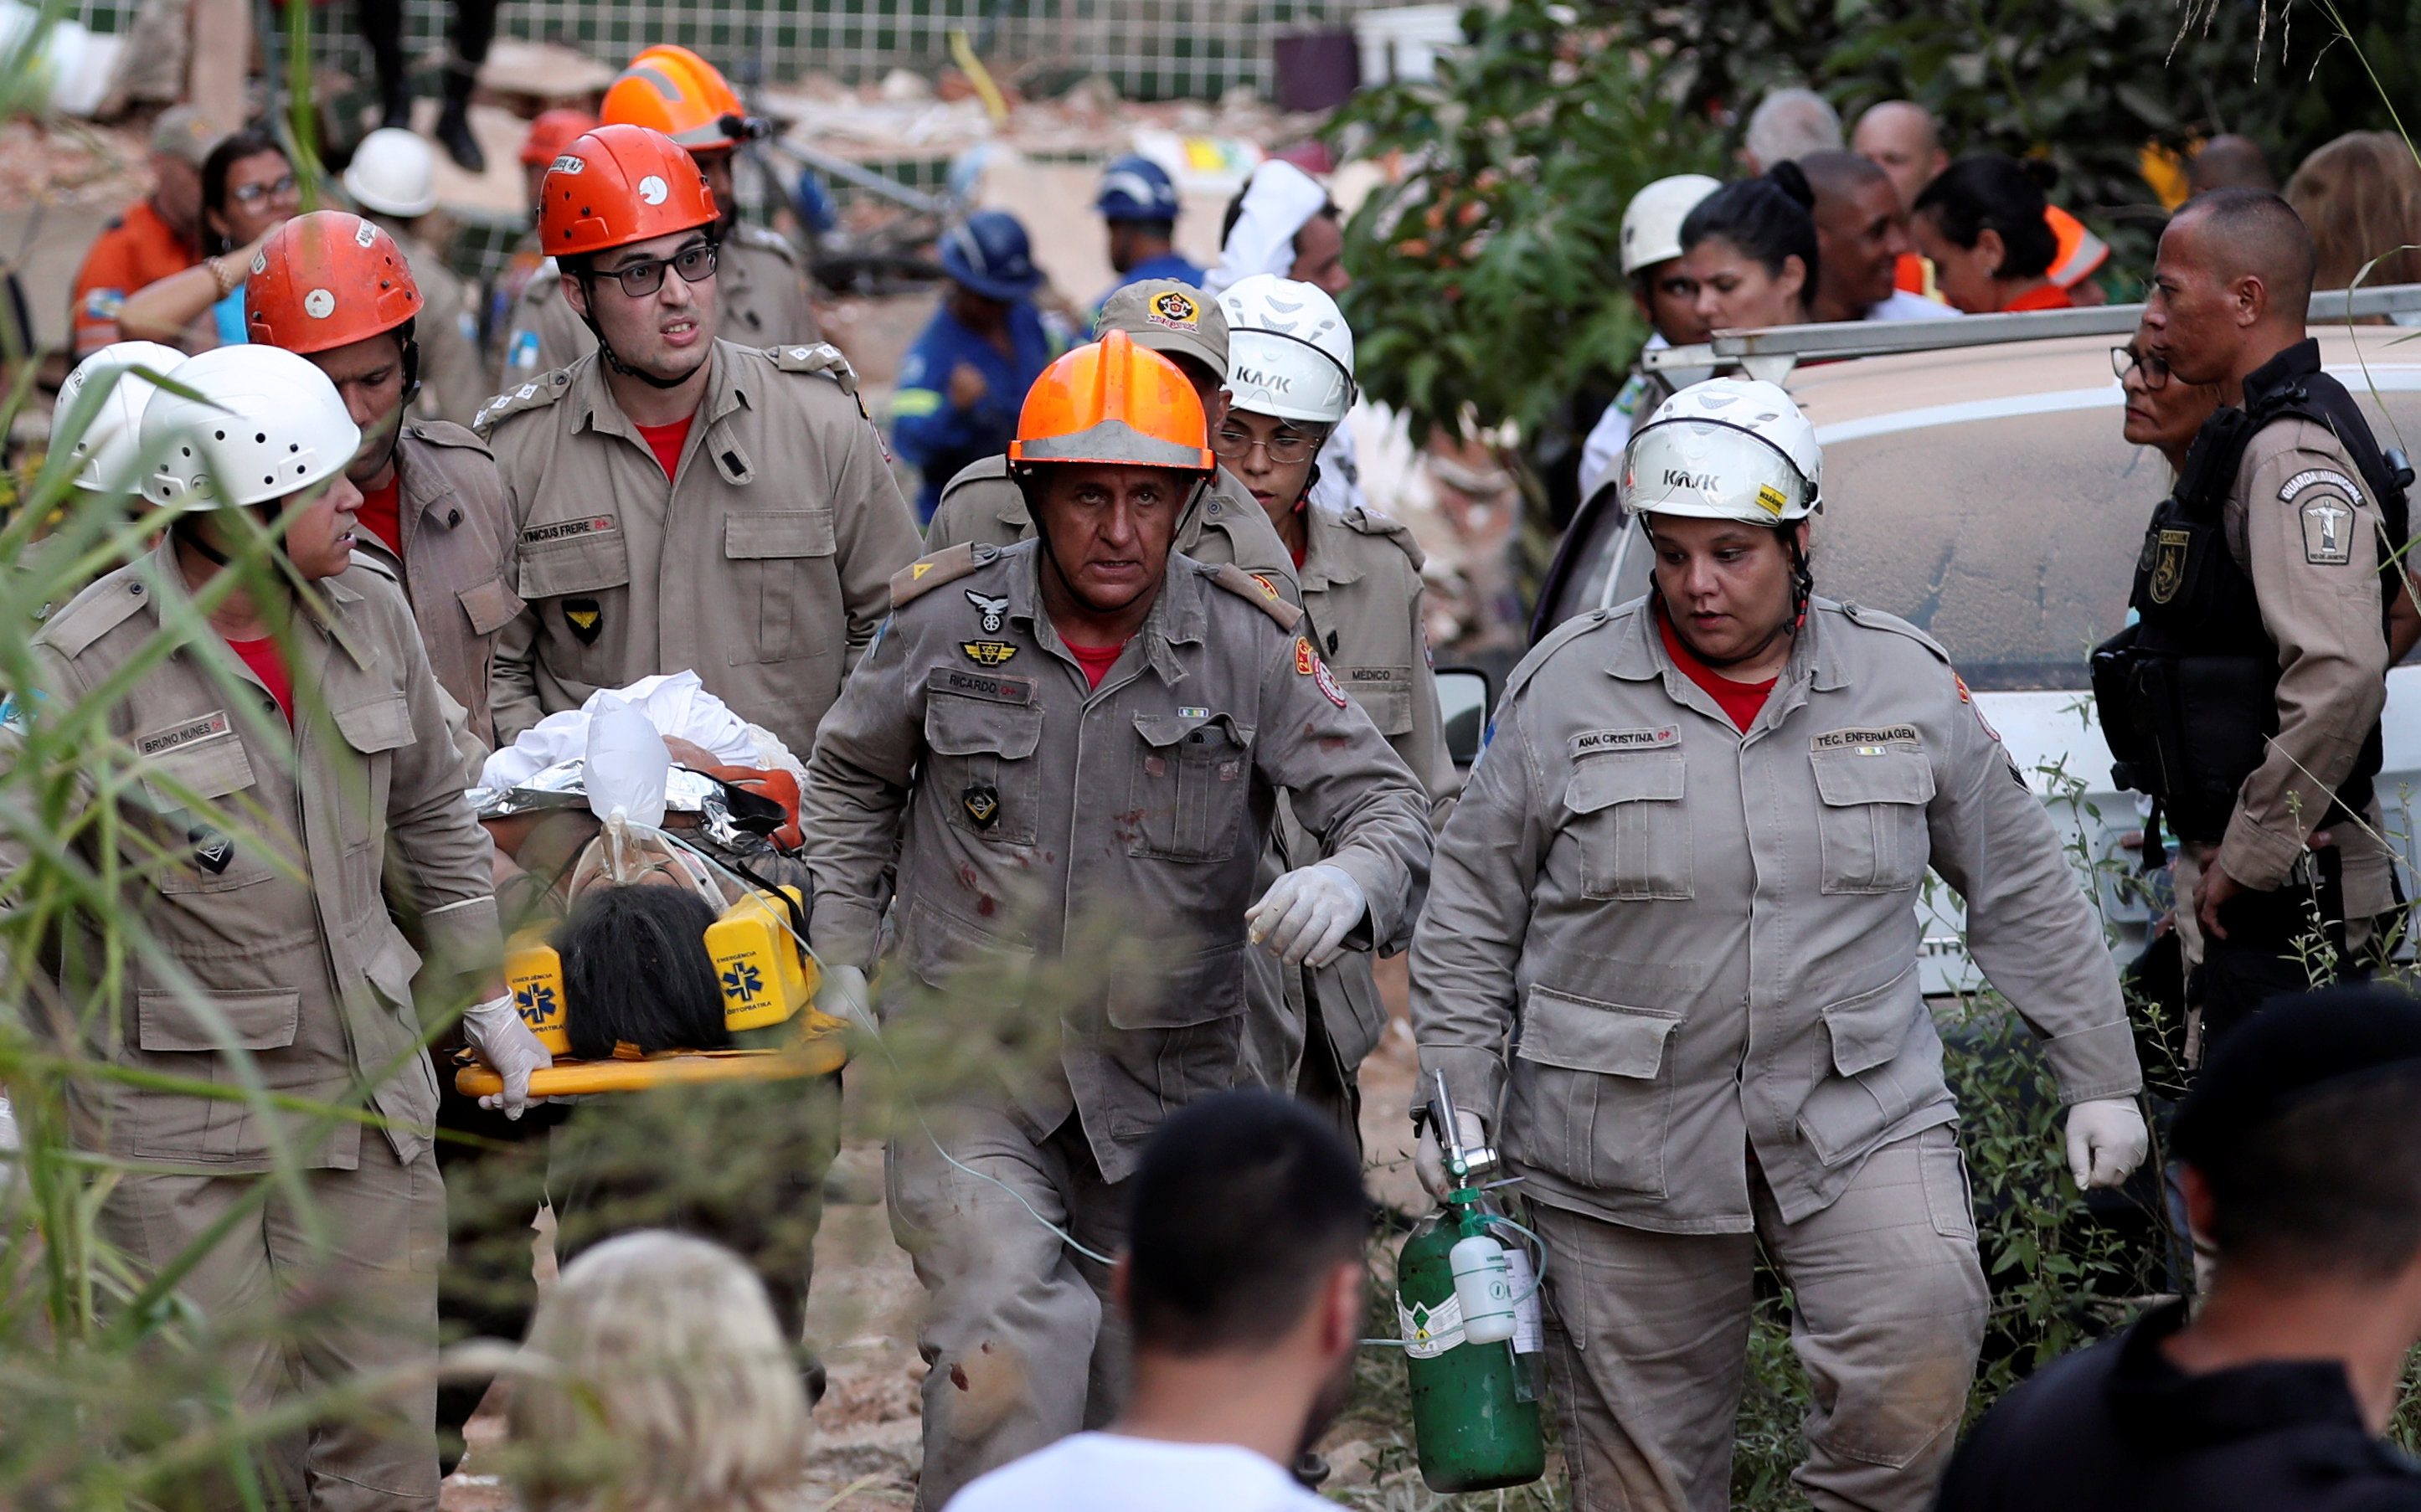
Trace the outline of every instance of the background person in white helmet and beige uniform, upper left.
[[436, 150], [424, 135], [380, 126], [353, 150], [344, 191], [395, 237], [421, 298], [414, 322], [421, 348], [414, 406], [431, 419], [467, 423], [496, 389], [487, 380], [487, 358], [479, 356], [479, 290], [421, 240], [429, 213], [438, 208]]

